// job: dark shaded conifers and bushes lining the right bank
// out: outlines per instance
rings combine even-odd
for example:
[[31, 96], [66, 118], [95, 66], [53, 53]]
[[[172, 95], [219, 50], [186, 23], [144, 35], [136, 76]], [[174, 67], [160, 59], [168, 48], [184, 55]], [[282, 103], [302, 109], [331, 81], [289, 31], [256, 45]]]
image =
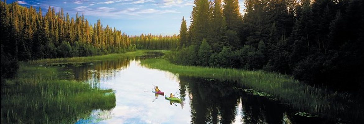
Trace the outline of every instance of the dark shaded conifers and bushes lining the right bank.
[[233, 67], [293, 75], [341, 91], [363, 91], [362, 0], [194, 0], [184, 17], [181, 65]]

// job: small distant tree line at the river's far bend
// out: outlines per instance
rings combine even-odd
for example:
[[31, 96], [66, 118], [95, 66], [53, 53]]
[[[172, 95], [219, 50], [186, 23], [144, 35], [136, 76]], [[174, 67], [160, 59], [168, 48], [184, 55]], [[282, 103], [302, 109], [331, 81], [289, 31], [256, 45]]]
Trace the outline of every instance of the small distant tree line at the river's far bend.
[[135, 44], [137, 49], [154, 49], [154, 50], [175, 50], [179, 44], [179, 37], [162, 36], [162, 34], [141, 34], [141, 36], [130, 36], [131, 44]]

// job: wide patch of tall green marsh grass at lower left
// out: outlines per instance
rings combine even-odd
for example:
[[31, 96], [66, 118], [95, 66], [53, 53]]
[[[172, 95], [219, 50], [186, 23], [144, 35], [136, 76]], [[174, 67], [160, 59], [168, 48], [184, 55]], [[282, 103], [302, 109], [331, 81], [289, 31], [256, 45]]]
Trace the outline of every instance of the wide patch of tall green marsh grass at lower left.
[[93, 109], [115, 107], [112, 90], [59, 80], [59, 73], [56, 67], [21, 63], [17, 77], [1, 83], [1, 123], [69, 124]]

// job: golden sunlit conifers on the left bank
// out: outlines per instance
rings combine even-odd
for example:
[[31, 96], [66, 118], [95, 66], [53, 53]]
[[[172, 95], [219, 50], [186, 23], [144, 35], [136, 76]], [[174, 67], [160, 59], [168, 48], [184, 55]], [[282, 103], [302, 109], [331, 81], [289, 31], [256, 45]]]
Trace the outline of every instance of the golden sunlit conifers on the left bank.
[[78, 13], [71, 17], [63, 9], [26, 8], [16, 2], [0, 1], [1, 78], [12, 77], [18, 61], [42, 58], [78, 57], [124, 53], [136, 50], [129, 37], [120, 30], [93, 26]]

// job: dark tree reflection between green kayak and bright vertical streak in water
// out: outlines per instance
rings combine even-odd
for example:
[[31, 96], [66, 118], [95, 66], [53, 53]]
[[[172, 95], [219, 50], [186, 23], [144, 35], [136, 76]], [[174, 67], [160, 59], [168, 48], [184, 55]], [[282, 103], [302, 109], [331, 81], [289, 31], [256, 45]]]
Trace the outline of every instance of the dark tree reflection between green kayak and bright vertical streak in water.
[[[236, 116], [237, 92], [226, 90], [229, 83], [180, 77], [181, 87], [189, 87], [191, 118], [194, 124], [232, 123]], [[185, 89], [181, 90], [183, 94]]]

